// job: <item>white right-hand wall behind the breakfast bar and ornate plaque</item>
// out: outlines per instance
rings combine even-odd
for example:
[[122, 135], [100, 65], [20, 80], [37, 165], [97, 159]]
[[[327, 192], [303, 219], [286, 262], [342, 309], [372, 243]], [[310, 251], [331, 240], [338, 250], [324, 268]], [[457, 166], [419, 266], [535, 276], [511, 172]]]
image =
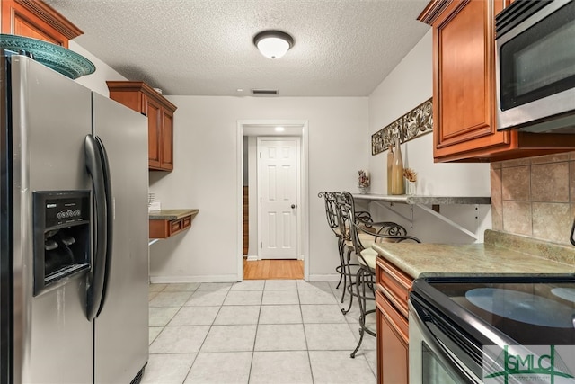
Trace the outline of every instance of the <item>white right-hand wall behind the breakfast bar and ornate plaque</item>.
[[[411, 111], [433, 94], [432, 31], [411, 49], [403, 61], [385, 78], [369, 96], [369, 140], [371, 135], [384, 128], [403, 114]], [[427, 134], [404, 143], [403, 165], [418, 174], [417, 194], [437, 196], [490, 196], [489, 164], [444, 164], [433, 162], [433, 134]], [[372, 193], [386, 193], [387, 151], [369, 156]], [[376, 215], [408, 225], [389, 210], [371, 204]], [[394, 209], [411, 214], [409, 207], [401, 204]], [[450, 219], [477, 232], [482, 241], [485, 228], [491, 228], [491, 206], [442, 206], [441, 212]], [[473, 238], [438, 221], [429, 213], [414, 208], [414, 224], [411, 233], [422, 241], [469, 243]], [[475, 219], [475, 216], [478, 219]], [[408, 227], [409, 228], [409, 227]]]

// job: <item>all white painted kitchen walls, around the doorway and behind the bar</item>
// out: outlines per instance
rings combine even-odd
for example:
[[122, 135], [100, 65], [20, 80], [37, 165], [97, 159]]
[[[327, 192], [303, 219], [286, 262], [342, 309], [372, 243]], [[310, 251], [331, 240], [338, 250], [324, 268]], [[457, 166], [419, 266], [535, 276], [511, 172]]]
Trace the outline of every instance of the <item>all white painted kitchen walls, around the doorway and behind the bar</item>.
[[[108, 95], [106, 80], [125, 80], [118, 72], [70, 42], [97, 69], [77, 81]], [[238, 120], [309, 122], [310, 279], [335, 277], [339, 263], [332, 231], [325, 221], [321, 191], [357, 192], [358, 169], [371, 172], [371, 192], [386, 191], [386, 152], [371, 156], [371, 134], [432, 94], [431, 32], [411, 50], [369, 98], [257, 98], [166, 96], [178, 106], [174, 116], [174, 171], [151, 172], [150, 191], [163, 208], [198, 208], [189, 231], [150, 248], [152, 281], [234, 281], [242, 239], [236, 228], [238, 198], [235, 164]], [[432, 136], [403, 145], [404, 164], [419, 175], [418, 192], [435, 195], [490, 195], [489, 165], [434, 164]], [[409, 223], [371, 207], [377, 217]], [[409, 215], [409, 207], [395, 205]], [[482, 235], [491, 227], [491, 207], [442, 206], [442, 213]], [[473, 242], [429, 213], [413, 212], [411, 233], [424, 241]], [[475, 216], [478, 219], [475, 219]], [[482, 240], [482, 237], [480, 238]]]

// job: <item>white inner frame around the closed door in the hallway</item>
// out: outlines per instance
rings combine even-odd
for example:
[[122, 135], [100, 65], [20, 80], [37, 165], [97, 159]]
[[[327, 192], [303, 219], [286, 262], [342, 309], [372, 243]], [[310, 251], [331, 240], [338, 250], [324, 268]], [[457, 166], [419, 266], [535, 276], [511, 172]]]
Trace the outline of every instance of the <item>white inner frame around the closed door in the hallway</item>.
[[[302, 251], [301, 251], [301, 238], [302, 238], [302, 215], [299, 209], [299, 201], [302, 200], [301, 198], [301, 136], [258, 136], [257, 137], [257, 148], [258, 153], [261, 154], [261, 141], [275, 141], [275, 140], [282, 140], [284, 138], [295, 139], [296, 140], [296, 260], [302, 259]], [[260, 177], [260, 170], [261, 170], [261, 156], [257, 159], [257, 183], [258, 183], [258, 192], [257, 192], [257, 199], [261, 200], [261, 177]], [[261, 242], [261, 202], [258, 204], [258, 243]], [[261, 259], [261, 248], [258, 247], [258, 260]]]

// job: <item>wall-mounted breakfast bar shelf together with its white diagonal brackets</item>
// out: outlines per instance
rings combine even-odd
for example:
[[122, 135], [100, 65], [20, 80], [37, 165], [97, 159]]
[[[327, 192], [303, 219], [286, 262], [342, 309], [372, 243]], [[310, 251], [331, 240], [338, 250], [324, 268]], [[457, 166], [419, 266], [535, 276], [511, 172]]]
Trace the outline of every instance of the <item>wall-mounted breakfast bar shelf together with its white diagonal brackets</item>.
[[491, 197], [489, 196], [429, 196], [429, 195], [408, 195], [408, 194], [399, 194], [399, 195], [387, 195], [387, 194], [376, 194], [376, 193], [356, 193], [353, 195], [353, 198], [357, 201], [373, 201], [378, 206], [383, 207], [387, 210], [391, 210], [396, 215], [402, 217], [403, 219], [408, 220], [410, 223], [413, 223], [413, 208], [411, 208], [411, 217], [408, 218], [404, 216], [401, 212], [394, 210], [394, 203], [397, 204], [408, 204], [411, 207], [416, 206], [421, 210], [425, 210], [429, 212], [431, 215], [435, 216], [436, 218], [446, 222], [450, 226], [457, 228], [458, 230], [464, 232], [470, 237], [473, 237], [477, 240], [478, 236], [476, 233], [468, 230], [457, 224], [452, 219], [448, 219], [444, 215], [441, 214], [441, 206], [442, 205], [453, 205], [453, 204], [468, 204], [468, 205], [475, 205], [475, 209], [477, 210], [479, 205], [490, 205], [491, 204]]

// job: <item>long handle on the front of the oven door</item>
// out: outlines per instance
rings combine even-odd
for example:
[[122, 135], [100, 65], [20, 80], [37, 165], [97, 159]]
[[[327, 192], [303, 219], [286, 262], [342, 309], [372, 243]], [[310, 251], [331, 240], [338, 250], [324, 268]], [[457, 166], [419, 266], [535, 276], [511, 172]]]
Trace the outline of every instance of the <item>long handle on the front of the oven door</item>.
[[[433, 324], [432, 318], [429, 314], [418, 305], [416, 301], [410, 299], [409, 305], [411, 308], [410, 315], [410, 326], [417, 326], [423, 339], [427, 341], [425, 343], [427, 347], [438, 357], [440, 362], [447, 368], [448, 371], [455, 373], [459, 380], [468, 384], [482, 384], [482, 378], [477, 378], [469, 368], [464, 367], [464, 364], [458, 362], [453, 356], [453, 353], [449, 351], [446, 344], [443, 344], [441, 340], [429, 329], [427, 323]], [[413, 322], [413, 324], [411, 324]], [[477, 380], [480, 381], [477, 381]]]

